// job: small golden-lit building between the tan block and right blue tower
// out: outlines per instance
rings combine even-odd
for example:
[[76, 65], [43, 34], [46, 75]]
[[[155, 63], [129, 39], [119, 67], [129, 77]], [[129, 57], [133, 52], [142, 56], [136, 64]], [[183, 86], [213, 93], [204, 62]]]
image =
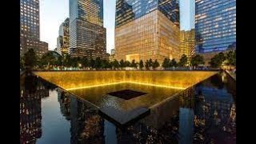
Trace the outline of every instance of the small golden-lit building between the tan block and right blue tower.
[[194, 29], [192, 30], [181, 30], [180, 33], [180, 48], [181, 54], [185, 54], [188, 61], [194, 55]]

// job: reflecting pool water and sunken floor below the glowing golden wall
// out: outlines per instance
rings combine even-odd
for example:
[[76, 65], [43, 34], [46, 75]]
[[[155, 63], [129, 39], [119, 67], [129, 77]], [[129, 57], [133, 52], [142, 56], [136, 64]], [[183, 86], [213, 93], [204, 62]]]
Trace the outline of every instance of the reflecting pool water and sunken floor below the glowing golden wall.
[[[133, 90], [120, 98], [113, 91]], [[135, 92], [134, 92], [135, 91]], [[215, 74], [189, 89], [119, 83], [63, 90], [34, 75], [21, 78], [21, 143], [236, 143], [235, 84]], [[111, 95], [112, 94], [112, 95]], [[150, 108], [119, 129], [98, 107]]]

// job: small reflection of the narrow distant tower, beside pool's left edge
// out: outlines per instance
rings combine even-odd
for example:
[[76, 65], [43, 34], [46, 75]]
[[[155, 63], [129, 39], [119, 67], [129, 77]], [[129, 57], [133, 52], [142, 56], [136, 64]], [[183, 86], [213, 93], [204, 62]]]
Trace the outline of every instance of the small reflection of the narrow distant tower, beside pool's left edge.
[[63, 90], [57, 89], [60, 109], [66, 120], [70, 120], [70, 96]]

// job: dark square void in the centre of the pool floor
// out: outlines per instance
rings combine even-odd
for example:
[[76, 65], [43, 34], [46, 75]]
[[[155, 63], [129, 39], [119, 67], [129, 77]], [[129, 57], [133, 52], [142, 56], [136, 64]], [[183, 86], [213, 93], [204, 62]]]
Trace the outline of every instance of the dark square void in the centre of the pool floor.
[[136, 97], [145, 95], [146, 93], [143, 93], [140, 91], [135, 91], [135, 90], [119, 90], [119, 91], [115, 91], [115, 92], [111, 92], [111, 93], [107, 93], [107, 94], [110, 94], [114, 97], [129, 100], [131, 98], [136, 98]]

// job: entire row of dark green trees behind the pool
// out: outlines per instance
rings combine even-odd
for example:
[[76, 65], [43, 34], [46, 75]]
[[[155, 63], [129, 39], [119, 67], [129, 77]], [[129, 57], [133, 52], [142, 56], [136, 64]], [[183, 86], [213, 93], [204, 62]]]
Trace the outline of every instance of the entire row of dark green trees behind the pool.
[[[132, 62], [121, 60], [118, 62], [117, 60], [114, 60], [113, 62], [109, 62], [106, 59], [101, 58], [80, 58], [80, 57], [71, 57], [69, 54], [66, 56], [61, 56], [55, 51], [50, 51], [44, 55], [42, 55], [42, 58], [38, 58], [36, 54], [34, 53], [33, 49], [30, 49], [24, 54], [24, 56], [21, 58], [21, 68], [22, 70], [25, 69], [35, 69], [35, 70], [53, 70], [54, 67], [59, 67], [61, 70], [63, 68], [80, 68], [80, 69], [94, 69], [94, 70], [123, 70], [126, 67], [132, 67], [134, 69], [142, 70], [144, 67], [146, 70], [155, 70], [157, 69], [160, 64], [158, 60], [152, 60], [151, 58], [149, 60], [146, 60], [146, 62], [143, 62], [142, 60], [140, 62], [135, 62], [133, 60]], [[223, 63], [226, 63], [228, 65], [235, 66], [236, 64], [236, 51], [231, 50], [227, 54], [219, 53], [214, 56], [214, 58], [211, 58], [211, 61], [209, 62], [211, 67], [219, 68], [222, 66]], [[169, 67], [184, 67], [184, 66], [193, 66], [198, 67], [200, 65], [204, 65], [204, 59], [201, 55], [197, 54], [194, 55], [193, 58], [191, 58], [190, 62], [188, 61], [188, 58], [185, 54], [182, 55], [182, 58], [179, 59], [179, 62], [176, 62], [175, 59], [169, 59], [165, 58], [162, 62], [162, 67], [164, 69], [167, 69]]]

